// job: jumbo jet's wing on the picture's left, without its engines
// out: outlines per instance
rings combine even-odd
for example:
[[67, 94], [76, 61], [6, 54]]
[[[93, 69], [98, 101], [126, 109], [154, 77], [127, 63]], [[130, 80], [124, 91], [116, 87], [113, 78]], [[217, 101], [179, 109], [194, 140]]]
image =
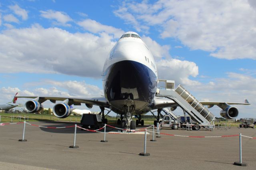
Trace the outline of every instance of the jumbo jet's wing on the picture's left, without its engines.
[[84, 98], [84, 97], [38, 97], [38, 96], [16, 96], [17, 98], [30, 98], [30, 99], [38, 99], [39, 103], [43, 103], [46, 100], [50, 100], [52, 103], [56, 103], [56, 101], [65, 101], [68, 99], [71, 105], [81, 105], [81, 103], [89, 104], [89, 105], [97, 105], [100, 107], [109, 107], [107, 100], [105, 97], [94, 97], [94, 98]]

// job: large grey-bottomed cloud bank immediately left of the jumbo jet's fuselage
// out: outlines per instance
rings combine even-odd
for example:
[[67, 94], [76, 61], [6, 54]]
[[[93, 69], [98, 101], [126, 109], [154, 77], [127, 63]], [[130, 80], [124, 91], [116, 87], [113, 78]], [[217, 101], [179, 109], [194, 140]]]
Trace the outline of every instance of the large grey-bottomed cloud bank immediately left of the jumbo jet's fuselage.
[[[60, 28], [5, 30], [0, 33], [2, 73], [62, 73], [100, 77], [106, 56], [114, 46], [106, 33], [69, 33]], [[16, 69], [13, 69], [16, 68]]]

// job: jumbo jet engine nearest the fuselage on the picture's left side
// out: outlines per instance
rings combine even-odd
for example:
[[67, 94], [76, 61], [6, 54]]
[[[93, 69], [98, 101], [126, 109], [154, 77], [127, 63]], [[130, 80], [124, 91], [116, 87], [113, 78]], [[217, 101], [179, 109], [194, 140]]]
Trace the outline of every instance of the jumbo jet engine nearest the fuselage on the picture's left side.
[[66, 118], [71, 114], [71, 109], [66, 103], [58, 103], [52, 108], [53, 114], [58, 118]]

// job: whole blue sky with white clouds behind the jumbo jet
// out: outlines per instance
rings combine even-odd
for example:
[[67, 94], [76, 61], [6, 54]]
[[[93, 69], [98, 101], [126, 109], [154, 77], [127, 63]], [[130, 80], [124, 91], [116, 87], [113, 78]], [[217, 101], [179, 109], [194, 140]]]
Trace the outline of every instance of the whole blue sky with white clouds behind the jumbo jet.
[[[16, 92], [100, 97], [109, 51], [134, 31], [159, 79], [175, 80], [199, 101], [248, 99], [236, 105], [238, 118], [256, 118], [255, 21], [254, 0], [1, 0], [0, 102]], [[209, 110], [220, 117], [217, 106]]]

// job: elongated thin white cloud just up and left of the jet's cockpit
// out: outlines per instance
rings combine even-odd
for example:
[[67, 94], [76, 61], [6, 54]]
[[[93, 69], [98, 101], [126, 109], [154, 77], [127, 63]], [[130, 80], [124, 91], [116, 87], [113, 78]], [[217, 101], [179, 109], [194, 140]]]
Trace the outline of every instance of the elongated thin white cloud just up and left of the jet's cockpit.
[[113, 34], [114, 38], [120, 38], [124, 31], [112, 26], [103, 25], [95, 20], [86, 19], [77, 23], [79, 26], [83, 27], [84, 30], [88, 30], [92, 33], [106, 32], [108, 34]]

